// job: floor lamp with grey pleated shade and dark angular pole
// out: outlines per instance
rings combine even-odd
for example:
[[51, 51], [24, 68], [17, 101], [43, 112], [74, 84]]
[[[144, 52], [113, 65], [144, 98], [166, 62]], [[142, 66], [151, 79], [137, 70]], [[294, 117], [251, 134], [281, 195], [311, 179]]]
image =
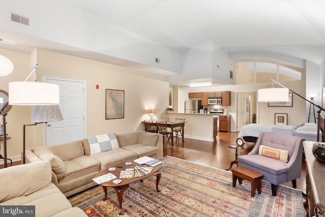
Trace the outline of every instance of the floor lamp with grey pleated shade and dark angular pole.
[[26, 126], [36, 126], [39, 123], [47, 123], [49, 121], [59, 121], [63, 120], [60, 108], [58, 105], [39, 105], [35, 106], [34, 111], [32, 112], [30, 122], [33, 124], [23, 125], [22, 128], [22, 163], [25, 164], [25, 151], [26, 151]]

